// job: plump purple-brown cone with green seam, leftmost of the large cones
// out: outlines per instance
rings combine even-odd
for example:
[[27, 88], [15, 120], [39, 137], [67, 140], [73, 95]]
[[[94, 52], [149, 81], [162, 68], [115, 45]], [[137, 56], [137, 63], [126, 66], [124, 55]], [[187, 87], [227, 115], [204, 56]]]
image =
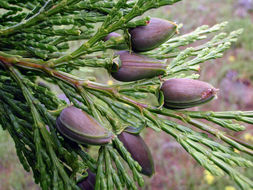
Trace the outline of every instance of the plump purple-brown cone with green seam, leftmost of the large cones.
[[101, 145], [112, 139], [111, 132], [74, 106], [62, 110], [56, 120], [56, 126], [62, 135], [80, 144]]

